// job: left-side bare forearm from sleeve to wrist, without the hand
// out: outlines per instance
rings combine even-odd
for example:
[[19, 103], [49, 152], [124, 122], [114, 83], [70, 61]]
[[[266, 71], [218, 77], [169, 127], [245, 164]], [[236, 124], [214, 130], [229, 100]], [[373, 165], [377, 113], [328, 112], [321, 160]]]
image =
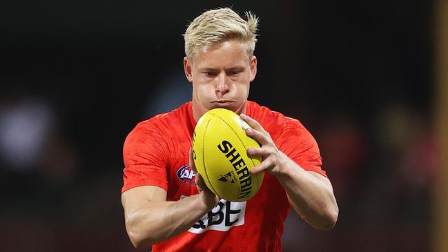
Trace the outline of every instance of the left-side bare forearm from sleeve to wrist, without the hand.
[[186, 197], [177, 202], [147, 202], [144, 207], [126, 215], [126, 229], [134, 246], [144, 248], [179, 235], [213, 208], [205, 204], [200, 195]]

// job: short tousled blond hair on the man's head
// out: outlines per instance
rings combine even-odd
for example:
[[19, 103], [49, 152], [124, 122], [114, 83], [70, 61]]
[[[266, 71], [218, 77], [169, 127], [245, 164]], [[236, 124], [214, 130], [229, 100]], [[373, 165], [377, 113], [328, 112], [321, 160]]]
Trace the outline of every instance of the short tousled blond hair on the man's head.
[[237, 39], [244, 44], [251, 58], [257, 41], [258, 18], [252, 12], [245, 14], [247, 20], [242, 19], [231, 8], [220, 8], [208, 10], [195, 18], [184, 34], [186, 57], [192, 59], [202, 46]]

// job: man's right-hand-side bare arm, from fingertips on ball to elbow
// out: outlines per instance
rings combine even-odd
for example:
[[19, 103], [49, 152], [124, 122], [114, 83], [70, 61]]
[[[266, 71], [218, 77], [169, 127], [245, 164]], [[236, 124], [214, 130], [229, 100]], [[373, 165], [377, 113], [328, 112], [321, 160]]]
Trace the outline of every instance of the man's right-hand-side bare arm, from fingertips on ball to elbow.
[[251, 169], [251, 173], [267, 171], [277, 177], [295, 211], [316, 229], [330, 230], [338, 220], [338, 204], [331, 182], [318, 173], [305, 171], [288, 156], [279, 151], [269, 133], [246, 115], [242, 118], [253, 129], [247, 129], [249, 137], [257, 139], [262, 148], [249, 148], [249, 155], [259, 155], [263, 161]]

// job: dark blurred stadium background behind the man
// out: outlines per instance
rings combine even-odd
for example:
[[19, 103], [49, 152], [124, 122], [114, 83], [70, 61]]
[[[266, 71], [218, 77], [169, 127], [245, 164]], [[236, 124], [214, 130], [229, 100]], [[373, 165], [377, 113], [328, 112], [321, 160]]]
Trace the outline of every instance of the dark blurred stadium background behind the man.
[[124, 138], [191, 99], [182, 34], [221, 6], [260, 17], [249, 99], [311, 131], [340, 206], [284, 251], [448, 251], [443, 0], [1, 1], [1, 251], [135, 251]]

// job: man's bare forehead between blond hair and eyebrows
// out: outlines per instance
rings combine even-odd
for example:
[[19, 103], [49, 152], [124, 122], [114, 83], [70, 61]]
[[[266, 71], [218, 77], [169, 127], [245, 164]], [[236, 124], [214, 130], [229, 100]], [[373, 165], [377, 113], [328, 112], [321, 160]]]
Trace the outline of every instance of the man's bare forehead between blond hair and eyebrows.
[[193, 55], [193, 64], [197, 67], [220, 67], [249, 64], [249, 55], [244, 44], [237, 40], [222, 41], [202, 46]]

